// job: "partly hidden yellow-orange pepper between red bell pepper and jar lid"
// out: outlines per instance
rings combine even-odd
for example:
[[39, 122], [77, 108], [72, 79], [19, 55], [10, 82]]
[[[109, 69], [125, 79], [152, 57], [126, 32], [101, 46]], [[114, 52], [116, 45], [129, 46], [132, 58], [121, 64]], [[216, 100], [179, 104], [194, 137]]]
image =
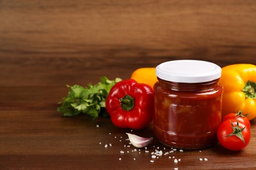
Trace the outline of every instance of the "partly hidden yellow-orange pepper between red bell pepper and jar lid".
[[131, 79], [139, 83], [148, 84], [154, 89], [154, 84], [158, 81], [155, 67], [145, 67], [133, 71]]

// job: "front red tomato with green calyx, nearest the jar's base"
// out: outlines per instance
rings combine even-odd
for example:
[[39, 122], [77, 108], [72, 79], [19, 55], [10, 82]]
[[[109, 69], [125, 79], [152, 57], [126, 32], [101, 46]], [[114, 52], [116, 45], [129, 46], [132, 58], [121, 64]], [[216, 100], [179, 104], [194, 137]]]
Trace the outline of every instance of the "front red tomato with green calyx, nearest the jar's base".
[[242, 150], [251, 139], [248, 127], [236, 119], [224, 120], [217, 131], [219, 143], [228, 150]]

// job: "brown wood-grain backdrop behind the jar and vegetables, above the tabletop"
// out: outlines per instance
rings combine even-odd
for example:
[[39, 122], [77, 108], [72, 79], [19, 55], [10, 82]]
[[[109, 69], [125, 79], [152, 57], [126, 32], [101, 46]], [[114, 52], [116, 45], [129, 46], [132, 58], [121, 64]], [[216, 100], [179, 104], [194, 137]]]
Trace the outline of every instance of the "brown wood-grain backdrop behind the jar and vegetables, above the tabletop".
[[172, 59], [256, 64], [255, 37], [253, 0], [1, 0], [0, 86], [85, 85]]

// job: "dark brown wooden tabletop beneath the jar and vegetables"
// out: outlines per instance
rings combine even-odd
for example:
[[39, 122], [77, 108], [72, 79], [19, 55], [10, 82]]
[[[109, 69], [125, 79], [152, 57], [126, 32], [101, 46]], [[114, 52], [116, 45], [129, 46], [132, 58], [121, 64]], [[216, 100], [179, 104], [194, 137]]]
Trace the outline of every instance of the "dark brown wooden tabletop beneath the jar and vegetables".
[[[1, 89], [0, 169], [256, 168], [255, 121], [251, 122], [251, 142], [242, 152], [225, 150], [219, 144], [203, 150], [180, 152], [178, 149], [169, 152], [172, 149], [157, 139], [148, 146], [148, 152], [144, 148], [135, 151], [133, 146], [124, 146], [129, 145], [125, 133], [131, 133], [130, 129], [115, 127], [109, 118], [95, 121], [87, 116], [63, 118], [56, 111], [56, 103], [66, 95], [66, 88], [45, 86]], [[152, 127], [148, 127], [132, 133], [150, 137], [153, 131]], [[105, 144], [108, 144], [107, 148]], [[151, 163], [151, 152], [155, 149], [162, 150], [163, 156]], [[125, 151], [125, 154], [121, 154], [120, 150]], [[166, 152], [169, 154], [164, 155]], [[174, 163], [173, 156], [181, 161]], [[207, 158], [208, 161], [200, 161], [200, 158]]]

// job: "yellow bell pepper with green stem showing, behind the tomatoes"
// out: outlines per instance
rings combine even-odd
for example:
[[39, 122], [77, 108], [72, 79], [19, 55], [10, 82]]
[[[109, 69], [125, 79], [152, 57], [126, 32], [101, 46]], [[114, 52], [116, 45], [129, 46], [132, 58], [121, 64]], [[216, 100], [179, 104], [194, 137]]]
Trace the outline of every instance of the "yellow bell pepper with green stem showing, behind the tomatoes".
[[252, 120], [256, 116], [256, 65], [234, 64], [223, 67], [220, 78], [223, 84], [223, 116], [242, 111]]

